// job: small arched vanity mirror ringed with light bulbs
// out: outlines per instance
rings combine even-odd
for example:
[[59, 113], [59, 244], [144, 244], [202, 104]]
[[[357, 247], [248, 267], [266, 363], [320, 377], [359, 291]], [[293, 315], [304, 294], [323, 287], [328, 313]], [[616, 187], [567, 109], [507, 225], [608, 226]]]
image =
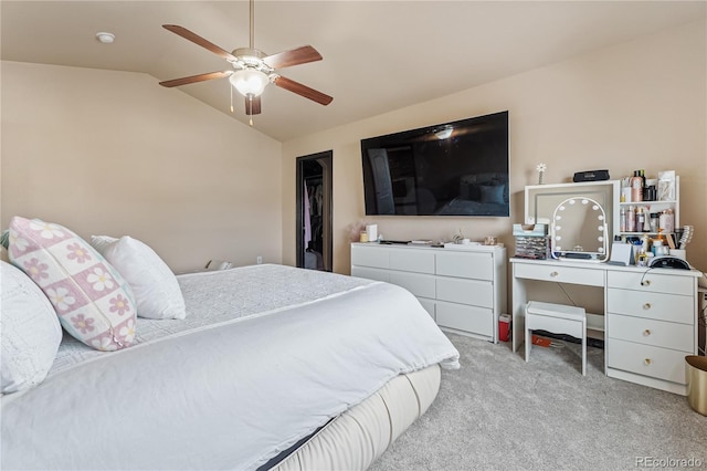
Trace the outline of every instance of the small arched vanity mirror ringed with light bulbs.
[[550, 224], [552, 257], [604, 261], [608, 255], [606, 213], [591, 198], [561, 201]]

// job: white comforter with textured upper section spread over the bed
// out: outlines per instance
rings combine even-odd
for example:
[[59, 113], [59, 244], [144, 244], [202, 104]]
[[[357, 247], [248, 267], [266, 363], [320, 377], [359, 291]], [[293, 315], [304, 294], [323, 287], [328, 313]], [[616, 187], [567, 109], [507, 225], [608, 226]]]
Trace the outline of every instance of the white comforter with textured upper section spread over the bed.
[[179, 281], [187, 320], [143, 320], [115, 353], [66, 341], [2, 398], [2, 469], [254, 469], [395, 375], [458, 366], [391, 284], [279, 265]]

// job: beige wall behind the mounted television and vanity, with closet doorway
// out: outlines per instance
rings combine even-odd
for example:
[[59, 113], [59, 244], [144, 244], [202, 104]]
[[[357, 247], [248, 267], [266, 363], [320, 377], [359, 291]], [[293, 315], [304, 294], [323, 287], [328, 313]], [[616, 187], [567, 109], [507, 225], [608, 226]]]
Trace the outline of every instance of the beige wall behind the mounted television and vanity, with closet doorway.
[[[510, 245], [523, 190], [571, 181], [580, 170], [612, 178], [643, 168], [680, 175], [682, 224], [694, 224], [688, 260], [707, 270], [706, 29], [700, 21], [371, 117], [283, 145], [283, 261], [295, 261], [295, 158], [334, 150], [334, 269], [348, 273], [349, 230], [366, 220], [389, 239], [473, 240]], [[365, 217], [360, 139], [498, 111], [510, 116], [510, 218]]]

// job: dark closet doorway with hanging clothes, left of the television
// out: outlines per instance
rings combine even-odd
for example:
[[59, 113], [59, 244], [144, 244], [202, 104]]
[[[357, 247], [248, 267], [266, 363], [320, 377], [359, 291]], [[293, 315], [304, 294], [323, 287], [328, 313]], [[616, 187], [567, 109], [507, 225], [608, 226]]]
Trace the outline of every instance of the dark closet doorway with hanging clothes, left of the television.
[[330, 272], [331, 160], [327, 150], [297, 157], [297, 266]]

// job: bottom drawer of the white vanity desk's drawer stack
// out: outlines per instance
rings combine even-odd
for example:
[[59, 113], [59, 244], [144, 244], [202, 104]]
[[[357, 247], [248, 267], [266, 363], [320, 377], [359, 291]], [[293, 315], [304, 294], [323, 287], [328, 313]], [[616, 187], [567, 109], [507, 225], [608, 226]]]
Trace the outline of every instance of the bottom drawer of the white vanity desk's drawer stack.
[[610, 338], [606, 346], [610, 368], [685, 384], [685, 353]]

